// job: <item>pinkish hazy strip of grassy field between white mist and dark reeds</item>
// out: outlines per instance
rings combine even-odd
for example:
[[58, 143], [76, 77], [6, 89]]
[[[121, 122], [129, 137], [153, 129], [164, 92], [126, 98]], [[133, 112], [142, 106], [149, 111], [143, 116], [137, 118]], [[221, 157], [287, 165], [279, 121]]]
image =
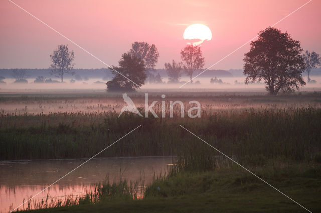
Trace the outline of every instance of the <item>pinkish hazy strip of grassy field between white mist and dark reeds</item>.
[[[165, 94], [166, 98], [161, 99]], [[128, 93], [137, 107], [144, 106], [144, 92]], [[321, 107], [321, 92], [300, 92], [293, 95], [268, 96], [266, 92], [148, 92], [149, 102], [158, 101], [155, 109], [160, 109], [161, 100], [197, 100], [204, 111], [241, 110], [248, 108], [302, 108]], [[0, 112], [5, 115], [84, 113], [100, 114], [119, 112], [125, 106], [119, 93], [26, 93], [2, 94]]]

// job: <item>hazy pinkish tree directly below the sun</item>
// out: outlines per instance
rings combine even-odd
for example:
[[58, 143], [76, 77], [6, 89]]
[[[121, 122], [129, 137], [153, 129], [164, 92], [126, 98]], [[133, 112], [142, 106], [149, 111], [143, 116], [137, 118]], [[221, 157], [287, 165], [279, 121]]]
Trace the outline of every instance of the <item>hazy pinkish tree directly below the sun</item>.
[[190, 82], [192, 83], [193, 72], [203, 68], [205, 63], [205, 58], [202, 57], [201, 47], [187, 45], [181, 50], [181, 59], [184, 62], [184, 71], [190, 76]]

